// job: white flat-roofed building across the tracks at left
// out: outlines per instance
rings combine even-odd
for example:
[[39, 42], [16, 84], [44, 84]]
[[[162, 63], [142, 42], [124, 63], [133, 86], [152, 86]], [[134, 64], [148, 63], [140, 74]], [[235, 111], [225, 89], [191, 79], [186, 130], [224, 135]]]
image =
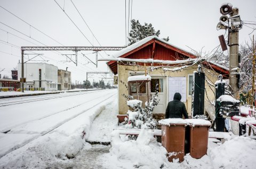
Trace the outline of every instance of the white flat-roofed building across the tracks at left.
[[[45, 91], [58, 90], [58, 67], [47, 63], [24, 63], [24, 87], [39, 87]], [[18, 79], [21, 78], [21, 63], [18, 63]]]

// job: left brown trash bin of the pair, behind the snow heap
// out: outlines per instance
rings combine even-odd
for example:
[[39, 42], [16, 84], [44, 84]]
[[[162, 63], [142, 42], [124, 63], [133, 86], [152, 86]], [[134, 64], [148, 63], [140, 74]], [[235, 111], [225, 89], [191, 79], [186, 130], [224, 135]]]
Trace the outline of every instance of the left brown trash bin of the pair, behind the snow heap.
[[169, 162], [179, 158], [183, 162], [185, 155], [185, 127], [186, 124], [162, 125], [162, 146], [169, 152]]

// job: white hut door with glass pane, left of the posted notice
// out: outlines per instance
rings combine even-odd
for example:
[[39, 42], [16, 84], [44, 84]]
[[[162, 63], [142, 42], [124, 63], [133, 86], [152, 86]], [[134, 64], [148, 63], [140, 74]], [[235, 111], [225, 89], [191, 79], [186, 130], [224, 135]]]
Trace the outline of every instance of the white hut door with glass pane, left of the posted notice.
[[166, 109], [166, 86], [165, 77], [163, 76], [151, 76], [151, 94], [154, 95], [156, 92], [156, 84], [158, 84], [158, 98], [157, 106], [153, 110], [154, 114], [164, 114]]

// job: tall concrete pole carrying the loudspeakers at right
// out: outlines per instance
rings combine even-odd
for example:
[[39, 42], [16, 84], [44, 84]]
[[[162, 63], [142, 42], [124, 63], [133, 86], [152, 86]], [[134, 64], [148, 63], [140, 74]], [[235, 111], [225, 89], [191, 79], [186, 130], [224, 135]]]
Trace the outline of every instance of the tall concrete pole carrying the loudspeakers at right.
[[[238, 9], [232, 9], [232, 12], [229, 14], [230, 18], [238, 15]], [[238, 68], [238, 52], [239, 52], [239, 43], [238, 43], [238, 29], [229, 30], [229, 84], [234, 92], [234, 98], [239, 100], [238, 95], [238, 85], [239, 85], [239, 75], [237, 73]]]

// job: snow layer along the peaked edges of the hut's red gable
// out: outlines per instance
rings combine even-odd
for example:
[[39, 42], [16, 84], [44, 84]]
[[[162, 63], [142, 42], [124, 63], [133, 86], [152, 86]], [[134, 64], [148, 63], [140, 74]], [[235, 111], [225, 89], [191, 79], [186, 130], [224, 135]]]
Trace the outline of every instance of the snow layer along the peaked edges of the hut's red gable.
[[113, 56], [114, 58], [118, 58], [118, 57], [122, 56], [123, 54], [128, 53], [128, 52], [130, 52], [130, 51], [136, 49], [137, 47], [139, 47], [139, 46], [141, 46], [141, 45], [147, 43], [147, 42], [150, 41], [151, 39], [157, 39], [157, 40], [160, 41], [160, 42], [163, 42], [163, 43], [165, 43], [165, 44], [171, 45], [171, 46], [176, 47], [176, 48], [178, 48], [178, 49], [180, 49], [180, 50], [182, 50], [182, 51], [184, 51], [184, 52], [187, 52], [187, 53], [189, 53], [189, 54], [194, 55], [193, 53], [191, 53], [191, 52], [189, 52], [189, 51], [186, 51], [186, 50], [184, 50], [184, 49], [181, 49], [180, 47], [177, 47], [177, 46], [175, 46], [175, 45], [173, 45], [173, 44], [171, 44], [171, 43], [169, 43], [169, 42], [166, 42], [166, 41], [164, 41], [163, 39], [161, 39], [161, 38], [159, 38], [159, 37], [157, 37], [157, 36], [148, 36], [148, 37], [146, 37], [146, 38], [144, 38], [144, 39], [141, 39], [140, 41], [138, 41], [138, 42], [136, 42], [136, 43], [134, 43], [134, 44], [132, 44], [132, 45], [130, 45], [130, 46], [127, 46], [127, 47], [125, 47], [124, 49], [122, 49], [122, 50], [120, 50], [120, 51], [114, 53], [112, 56]]

